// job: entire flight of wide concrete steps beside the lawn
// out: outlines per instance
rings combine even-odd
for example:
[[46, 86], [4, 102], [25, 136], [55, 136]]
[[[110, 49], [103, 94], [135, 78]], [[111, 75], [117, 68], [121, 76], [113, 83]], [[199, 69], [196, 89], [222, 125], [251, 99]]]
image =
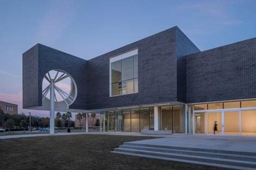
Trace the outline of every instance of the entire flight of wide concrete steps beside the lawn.
[[256, 170], [256, 153], [125, 142], [112, 153], [204, 164], [235, 170]]

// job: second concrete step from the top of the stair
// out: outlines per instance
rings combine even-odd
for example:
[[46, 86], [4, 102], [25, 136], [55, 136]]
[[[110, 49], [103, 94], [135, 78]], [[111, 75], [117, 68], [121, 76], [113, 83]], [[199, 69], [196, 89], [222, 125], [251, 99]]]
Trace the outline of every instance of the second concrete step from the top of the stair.
[[256, 162], [256, 156], [244, 156], [244, 155], [202, 152], [202, 151], [198, 152], [198, 151], [181, 150], [181, 149], [166, 149], [166, 148], [160, 148], [160, 147], [144, 147], [144, 146], [125, 145], [125, 144], [120, 145], [119, 148]]

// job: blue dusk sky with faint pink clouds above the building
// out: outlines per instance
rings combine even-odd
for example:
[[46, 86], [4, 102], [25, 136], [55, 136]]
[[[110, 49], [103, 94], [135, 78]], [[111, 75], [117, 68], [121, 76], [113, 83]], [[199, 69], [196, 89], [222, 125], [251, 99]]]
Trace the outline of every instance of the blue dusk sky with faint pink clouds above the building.
[[250, 39], [256, 1], [0, 0], [0, 100], [29, 112], [22, 109], [22, 54], [37, 43], [91, 59], [173, 26], [201, 51]]

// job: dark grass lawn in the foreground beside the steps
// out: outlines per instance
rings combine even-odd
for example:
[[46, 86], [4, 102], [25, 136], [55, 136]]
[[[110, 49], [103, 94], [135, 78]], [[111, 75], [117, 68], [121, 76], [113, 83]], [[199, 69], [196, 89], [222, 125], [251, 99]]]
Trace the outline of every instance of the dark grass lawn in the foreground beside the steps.
[[140, 136], [70, 135], [0, 140], [1, 170], [221, 170], [110, 153]]

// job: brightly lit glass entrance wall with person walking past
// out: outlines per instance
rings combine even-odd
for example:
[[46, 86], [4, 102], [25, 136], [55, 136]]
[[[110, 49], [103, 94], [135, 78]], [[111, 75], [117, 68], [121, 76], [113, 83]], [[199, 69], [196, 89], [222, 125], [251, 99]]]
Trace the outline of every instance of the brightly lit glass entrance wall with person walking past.
[[193, 105], [191, 109], [192, 132], [194, 126], [195, 133], [206, 133], [207, 129], [208, 134], [256, 135], [256, 100]]

